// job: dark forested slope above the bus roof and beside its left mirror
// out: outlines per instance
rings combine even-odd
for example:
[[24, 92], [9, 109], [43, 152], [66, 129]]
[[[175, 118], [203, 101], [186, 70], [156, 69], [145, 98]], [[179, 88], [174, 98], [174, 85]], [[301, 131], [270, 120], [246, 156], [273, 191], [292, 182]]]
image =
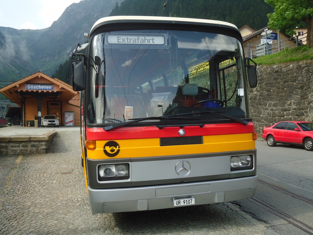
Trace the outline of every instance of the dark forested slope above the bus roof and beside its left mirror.
[[[272, 12], [273, 8], [264, 0], [124, 0], [120, 4], [116, 2], [110, 16], [202, 18], [226, 21], [238, 28], [247, 24], [252, 29], [259, 30], [267, 26], [267, 14]], [[69, 83], [69, 68], [70, 61], [67, 60], [59, 66], [52, 77]]]

